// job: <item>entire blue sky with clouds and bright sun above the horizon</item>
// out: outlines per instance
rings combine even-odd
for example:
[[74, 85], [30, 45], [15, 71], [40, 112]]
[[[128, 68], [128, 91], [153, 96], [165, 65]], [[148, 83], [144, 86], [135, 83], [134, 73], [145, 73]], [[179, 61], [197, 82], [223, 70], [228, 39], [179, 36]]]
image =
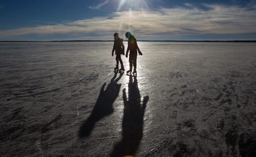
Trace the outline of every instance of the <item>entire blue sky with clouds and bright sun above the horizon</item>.
[[256, 40], [256, 0], [0, 0], [0, 41]]

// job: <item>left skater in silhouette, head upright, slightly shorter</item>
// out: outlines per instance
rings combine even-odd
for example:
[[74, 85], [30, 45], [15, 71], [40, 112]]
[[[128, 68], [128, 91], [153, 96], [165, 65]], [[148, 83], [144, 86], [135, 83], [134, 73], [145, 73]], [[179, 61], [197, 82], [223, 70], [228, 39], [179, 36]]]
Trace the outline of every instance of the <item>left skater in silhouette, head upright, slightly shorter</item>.
[[123, 67], [123, 61], [121, 59], [121, 54], [124, 55], [124, 45], [123, 45], [123, 39], [119, 38], [118, 33], [114, 33], [114, 46], [112, 50], [112, 57], [114, 56], [114, 51], [116, 54], [116, 68], [114, 70], [118, 71], [118, 63], [121, 64], [120, 71], [124, 71]]

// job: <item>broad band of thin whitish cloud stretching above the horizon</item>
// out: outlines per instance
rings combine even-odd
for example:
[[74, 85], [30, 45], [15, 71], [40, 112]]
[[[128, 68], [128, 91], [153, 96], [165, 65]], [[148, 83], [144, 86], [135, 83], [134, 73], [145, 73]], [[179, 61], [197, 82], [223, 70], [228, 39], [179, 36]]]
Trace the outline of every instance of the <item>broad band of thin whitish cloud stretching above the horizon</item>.
[[[109, 39], [113, 32], [134, 30], [143, 38], [173, 36], [256, 34], [256, 10], [239, 6], [205, 5], [199, 8], [162, 8], [158, 11], [114, 12], [111, 17], [66, 21], [54, 26], [37, 26], [0, 31], [0, 39], [23, 35], [76, 34], [81, 39]], [[255, 8], [255, 6], [252, 6]], [[121, 25], [120, 25], [121, 23]], [[120, 27], [121, 26], [121, 27]], [[84, 37], [86, 36], [86, 37]]]

